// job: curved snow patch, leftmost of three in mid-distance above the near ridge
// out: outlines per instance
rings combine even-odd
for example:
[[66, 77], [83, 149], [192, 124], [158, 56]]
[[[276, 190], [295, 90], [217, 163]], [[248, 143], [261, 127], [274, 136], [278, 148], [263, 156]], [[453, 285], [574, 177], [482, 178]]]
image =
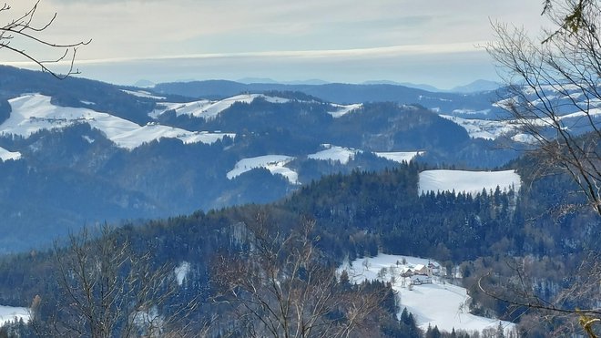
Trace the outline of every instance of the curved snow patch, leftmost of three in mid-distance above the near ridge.
[[278, 174], [290, 181], [292, 184], [299, 184], [299, 174], [290, 168], [284, 167], [294, 158], [287, 155], [264, 155], [250, 159], [240, 159], [229, 170], [228, 179], [234, 179], [239, 175], [256, 168], [265, 168], [270, 170], [271, 174]]

